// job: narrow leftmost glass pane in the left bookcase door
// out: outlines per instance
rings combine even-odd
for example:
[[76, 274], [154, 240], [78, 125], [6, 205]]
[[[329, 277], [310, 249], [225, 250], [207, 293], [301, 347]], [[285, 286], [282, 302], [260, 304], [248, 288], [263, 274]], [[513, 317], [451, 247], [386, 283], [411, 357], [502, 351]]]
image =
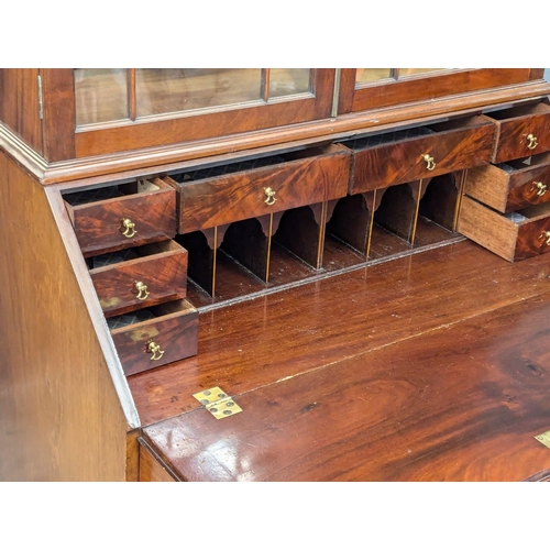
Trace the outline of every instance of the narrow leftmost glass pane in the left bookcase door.
[[75, 69], [76, 124], [128, 119], [127, 69]]

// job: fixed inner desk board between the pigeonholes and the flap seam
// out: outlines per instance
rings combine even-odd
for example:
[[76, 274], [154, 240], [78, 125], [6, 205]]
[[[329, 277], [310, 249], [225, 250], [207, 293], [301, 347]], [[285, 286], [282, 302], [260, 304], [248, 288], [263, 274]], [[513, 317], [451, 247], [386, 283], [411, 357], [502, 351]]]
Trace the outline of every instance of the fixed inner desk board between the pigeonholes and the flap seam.
[[[199, 316], [196, 358], [129, 378], [143, 426], [550, 290], [546, 257], [509, 264], [472, 242], [362, 267]], [[340, 322], [342, 320], [342, 322]]]

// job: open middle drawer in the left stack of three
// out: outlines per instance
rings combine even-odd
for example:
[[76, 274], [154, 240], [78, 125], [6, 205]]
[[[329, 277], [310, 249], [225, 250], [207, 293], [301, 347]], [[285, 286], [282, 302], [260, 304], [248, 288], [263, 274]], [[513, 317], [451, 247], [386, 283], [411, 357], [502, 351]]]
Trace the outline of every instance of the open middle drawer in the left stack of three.
[[185, 298], [187, 251], [163, 241], [88, 260], [106, 317]]

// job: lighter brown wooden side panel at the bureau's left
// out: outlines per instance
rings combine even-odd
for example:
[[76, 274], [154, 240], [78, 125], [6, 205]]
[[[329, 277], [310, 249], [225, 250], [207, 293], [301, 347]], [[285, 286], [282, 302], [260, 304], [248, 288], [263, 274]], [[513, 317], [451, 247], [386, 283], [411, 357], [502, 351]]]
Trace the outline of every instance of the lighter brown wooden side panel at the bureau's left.
[[0, 480], [123, 481], [129, 421], [62, 239], [68, 219], [4, 153], [0, 174]]

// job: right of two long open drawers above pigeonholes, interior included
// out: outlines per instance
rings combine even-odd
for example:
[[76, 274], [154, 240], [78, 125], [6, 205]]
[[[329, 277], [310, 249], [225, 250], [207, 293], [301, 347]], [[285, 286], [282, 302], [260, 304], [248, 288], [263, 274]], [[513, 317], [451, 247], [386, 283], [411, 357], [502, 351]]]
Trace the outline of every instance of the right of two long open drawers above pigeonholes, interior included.
[[485, 117], [470, 117], [342, 142], [353, 155], [350, 194], [487, 164], [495, 129]]

